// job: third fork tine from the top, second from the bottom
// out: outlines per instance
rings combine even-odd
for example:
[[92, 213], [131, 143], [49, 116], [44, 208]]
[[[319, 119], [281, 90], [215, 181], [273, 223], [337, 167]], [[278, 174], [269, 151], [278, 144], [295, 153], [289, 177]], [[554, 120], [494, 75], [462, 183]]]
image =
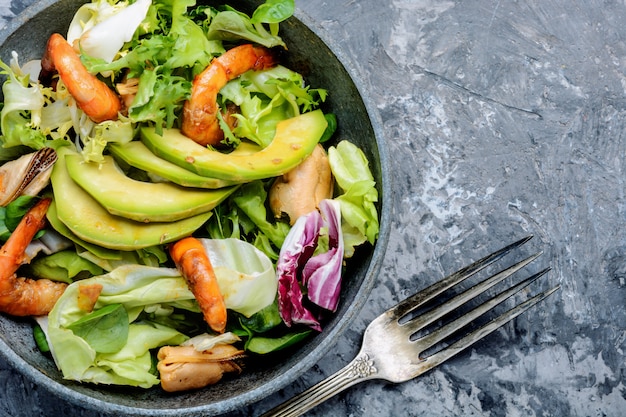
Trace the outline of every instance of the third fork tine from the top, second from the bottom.
[[509, 289], [507, 289], [505, 291], [502, 291], [498, 295], [495, 295], [491, 299], [485, 301], [484, 303], [482, 303], [478, 307], [476, 307], [473, 310], [467, 312], [466, 314], [464, 314], [463, 316], [457, 318], [456, 320], [454, 320], [454, 321], [452, 321], [450, 323], [447, 323], [446, 325], [438, 328], [437, 330], [435, 330], [435, 331], [433, 331], [431, 333], [428, 333], [427, 335], [419, 338], [418, 340], [416, 340], [416, 342], [419, 341], [420, 347], [422, 348], [422, 352], [424, 352], [426, 349], [429, 349], [429, 348], [433, 347], [435, 344], [441, 342], [446, 337], [448, 337], [448, 336], [452, 335], [453, 333], [455, 333], [456, 331], [460, 330], [462, 327], [470, 324], [472, 321], [474, 321], [478, 317], [482, 316], [484, 313], [486, 313], [487, 311], [491, 310], [492, 308], [494, 308], [498, 304], [502, 303], [507, 298], [509, 298], [512, 295], [518, 293], [523, 288], [527, 287], [528, 285], [530, 285], [531, 283], [533, 283], [534, 281], [539, 279], [541, 276], [546, 274], [548, 271], [550, 271], [550, 269], [551, 268], [548, 267], [548, 268], [545, 268], [542, 271], [537, 272], [534, 275], [531, 275], [530, 277], [526, 278], [525, 280], [520, 281], [518, 284], [510, 287]]

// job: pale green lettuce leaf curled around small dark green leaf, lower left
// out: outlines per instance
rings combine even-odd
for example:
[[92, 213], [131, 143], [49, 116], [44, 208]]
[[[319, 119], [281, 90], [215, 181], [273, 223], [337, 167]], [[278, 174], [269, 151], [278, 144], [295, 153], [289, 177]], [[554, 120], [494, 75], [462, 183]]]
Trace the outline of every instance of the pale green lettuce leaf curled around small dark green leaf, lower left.
[[[89, 284], [102, 285], [96, 309], [121, 304], [128, 312], [129, 335], [117, 352], [98, 353], [68, 328], [88, 314], [78, 307], [78, 294], [80, 285]], [[144, 308], [155, 304], [198, 310], [193, 294], [175, 269], [127, 265], [69, 285], [48, 316], [52, 354], [64, 378], [143, 388], [158, 384], [151, 371], [150, 350], [178, 345], [187, 336], [155, 323], [134, 322]]]

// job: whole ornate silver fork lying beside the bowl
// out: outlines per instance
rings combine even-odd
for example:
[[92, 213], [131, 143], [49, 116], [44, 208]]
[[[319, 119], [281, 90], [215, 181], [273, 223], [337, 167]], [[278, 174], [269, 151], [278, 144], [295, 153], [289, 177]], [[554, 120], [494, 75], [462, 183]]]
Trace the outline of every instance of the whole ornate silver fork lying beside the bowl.
[[266, 412], [261, 417], [299, 416], [343, 390], [370, 379], [384, 379], [394, 383], [406, 382], [450, 359], [539, 303], [558, 290], [559, 286], [557, 285], [550, 290], [527, 299], [441, 350], [430, 355], [425, 354], [426, 351], [432, 350], [462, 327], [472, 323], [475, 319], [544, 275], [550, 268], [533, 274], [436, 330], [432, 330], [425, 335], [420, 335], [420, 332], [425, 332], [427, 326], [435, 323], [446, 314], [453, 312], [461, 305], [522, 269], [537, 259], [542, 252], [511, 265], [452, 297], [445, 303], [419, 314], [417, 317], [407, 319], [412, 312], [419, 308], [424, 308], [429, 301], [444, 291], [498, 261], [513, 249], [528, 242], [531, 238], [532, 236], [528, 236], [520, 239], [492, 253], [413, 294], [385, 311], [365, 329], [361, 350], [352, 362], [301, 394]]

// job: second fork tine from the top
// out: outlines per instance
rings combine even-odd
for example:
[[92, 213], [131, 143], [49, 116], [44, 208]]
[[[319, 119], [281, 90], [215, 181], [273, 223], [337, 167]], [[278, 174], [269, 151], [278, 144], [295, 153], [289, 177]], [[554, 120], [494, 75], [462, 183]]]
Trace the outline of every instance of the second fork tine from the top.
[[413, 320], [402, 323], [400, 326], [403, 327], [405, 332], [409, 335], [415, 333], [420, 329], [423, 329], [424, 327], [433, 323], [435, 320], [440, 319], [444, 315], [455, 310], [466, 302], [474, 299], [479, 294], [487, 291], [489, 288], [510, 277], [515, 272], [519, 271], [520, 269], [537, 259], [539, 256], [541, 256], [541, 254], [542, 252], [536, 253], [522, 261], [517, 262], [514, 265], [511, 265], [510, 267], [490, 276], [489, 278], [486, 278], [482, 282], [474, 285], [464, 292], [452, 297], [450, 300], [446, 301], [440, 306], [421, 314], [419, 317]]

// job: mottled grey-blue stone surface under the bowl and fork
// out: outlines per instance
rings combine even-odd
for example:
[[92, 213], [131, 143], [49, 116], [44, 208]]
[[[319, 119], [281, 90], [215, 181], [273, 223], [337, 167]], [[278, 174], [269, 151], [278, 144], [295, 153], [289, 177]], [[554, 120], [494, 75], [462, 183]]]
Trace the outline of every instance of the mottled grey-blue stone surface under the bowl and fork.
[[[1, 22], [27, 4], [0, 0]], [[310, 415], [624, 415], [626, 4], [297, 5], [344, 48], [380, 112], [393, 229], [378, 285], [345, 338], [290, 387], [232, 416], [259, 414], [328, 376], [380, 312], [527, 234], [527, 251], [545, 251], [536, 268], [553, 268], [531, 291], [560, 284], [558, 293], [419, 379], [368, 382]], [[101, 416], [4, 362], [0, 414]]]

